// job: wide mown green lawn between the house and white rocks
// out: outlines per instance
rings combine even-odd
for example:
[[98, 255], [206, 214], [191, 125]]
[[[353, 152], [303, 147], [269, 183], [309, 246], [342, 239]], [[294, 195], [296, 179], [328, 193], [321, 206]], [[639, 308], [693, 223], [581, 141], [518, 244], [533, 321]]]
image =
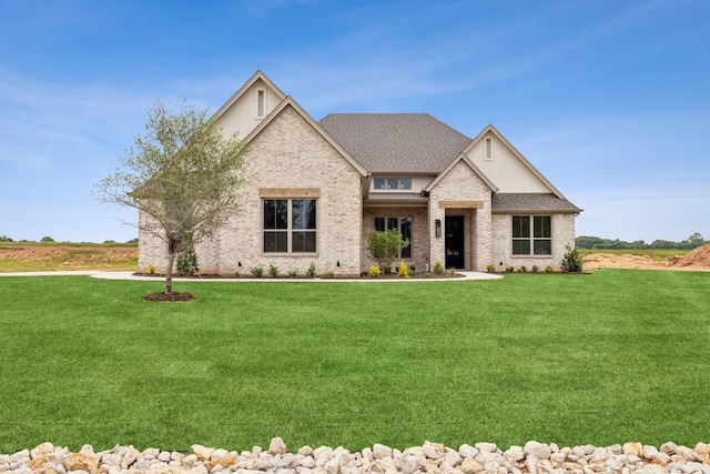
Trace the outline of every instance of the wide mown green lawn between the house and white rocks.
[[0, 279], [0, 452], [710, 438], [710, 274]]

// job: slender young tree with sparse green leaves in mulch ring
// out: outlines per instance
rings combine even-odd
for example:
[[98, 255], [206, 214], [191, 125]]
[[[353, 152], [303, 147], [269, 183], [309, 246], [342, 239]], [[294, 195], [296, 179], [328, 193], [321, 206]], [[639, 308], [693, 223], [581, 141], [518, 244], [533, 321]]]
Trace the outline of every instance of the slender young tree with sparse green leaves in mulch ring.
[[97, 184], [101, 201], [145, 214], [133, 225], [168, 244], [168, 295], [176, 252], [214, 238], [239, 206], [245, 147], [206, 118], [207, 109], [182, 102], [173, 112], [155, 102], [145, 134]]

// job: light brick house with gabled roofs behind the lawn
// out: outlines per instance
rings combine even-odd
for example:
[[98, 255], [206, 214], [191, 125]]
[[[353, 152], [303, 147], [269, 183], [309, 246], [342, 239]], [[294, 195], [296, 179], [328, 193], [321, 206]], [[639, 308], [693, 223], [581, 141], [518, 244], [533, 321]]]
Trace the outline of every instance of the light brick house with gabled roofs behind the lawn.
[[[426, 113], [316, 121], [261, 71], [215, 118], [248, 143], [246, 180], [240, 210], [197, 245], [203, 273], [361, 274], [373, 230], [407, 238], [400, 260], [418, 271], [558, 269], [574, 246], [581, 209], [493, 125], [471, 139]], [[141, 232], [139, 248], [140, 271], [164, 271], [164, 242]]]

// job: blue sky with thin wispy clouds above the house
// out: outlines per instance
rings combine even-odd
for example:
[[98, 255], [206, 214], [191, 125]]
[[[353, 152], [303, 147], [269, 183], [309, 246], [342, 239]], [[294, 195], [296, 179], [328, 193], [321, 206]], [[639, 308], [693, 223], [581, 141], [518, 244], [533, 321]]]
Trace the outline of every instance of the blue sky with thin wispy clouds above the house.
[[93, 184], [156, 99], [216, 110], [256, 70], [316, 120], [493, 123], [577, 235], [710, 239], [706, 0], [0, 0], [0, 235], [135, 238]]

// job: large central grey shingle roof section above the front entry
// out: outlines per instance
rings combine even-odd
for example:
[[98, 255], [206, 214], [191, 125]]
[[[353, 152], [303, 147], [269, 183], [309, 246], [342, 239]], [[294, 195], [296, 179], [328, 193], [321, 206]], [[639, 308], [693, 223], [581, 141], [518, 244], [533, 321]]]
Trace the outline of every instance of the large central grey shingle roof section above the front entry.
[[439, 173], [471, 142], [428, 113], [332, 113], [318, 123], [374, 173]]

